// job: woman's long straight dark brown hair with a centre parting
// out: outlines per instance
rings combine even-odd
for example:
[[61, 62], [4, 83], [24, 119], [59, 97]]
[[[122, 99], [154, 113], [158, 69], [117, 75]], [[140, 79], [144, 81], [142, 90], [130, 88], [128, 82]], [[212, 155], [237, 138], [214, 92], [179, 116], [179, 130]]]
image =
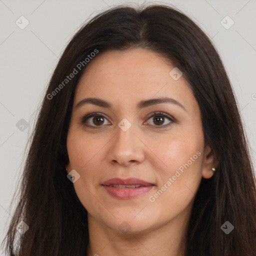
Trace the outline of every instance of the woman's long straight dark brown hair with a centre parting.
[[[130, 47], [161, 53], [183, 72], [200, 107], [204, 142], [219, 160], [213, 177], [202, 178], [195, 195], [185, 255], [255, 256], [256, 179], [230, 81], [205, 33], [168, 4], [119, 5], [104, 10], [84, 24], [66, 46], [32, 134], [19, 201], [4, 239], [6, 254], [86, 255], [87, 211], [65, 170], [74, 91], [86, 71], [85, 62], [80, 69], [77, 64], [95, 49], [100, 54]], [[63, 85], [74, 68], [77, 74]], [[15, 227], [21, 220], [29, 228], [18, 235]], [[234, 226], [228, 234], [221, 229], [225, 221]]]

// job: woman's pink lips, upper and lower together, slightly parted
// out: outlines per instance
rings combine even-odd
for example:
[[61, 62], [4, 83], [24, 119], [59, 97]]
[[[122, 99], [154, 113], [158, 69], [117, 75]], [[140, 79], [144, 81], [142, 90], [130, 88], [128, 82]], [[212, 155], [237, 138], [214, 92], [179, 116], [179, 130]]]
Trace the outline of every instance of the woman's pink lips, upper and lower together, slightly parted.
[[115, 198], [130, 199], [148, 192], [154, 184], [139, 178], [112, 178], [104, 181], [102, 186]]

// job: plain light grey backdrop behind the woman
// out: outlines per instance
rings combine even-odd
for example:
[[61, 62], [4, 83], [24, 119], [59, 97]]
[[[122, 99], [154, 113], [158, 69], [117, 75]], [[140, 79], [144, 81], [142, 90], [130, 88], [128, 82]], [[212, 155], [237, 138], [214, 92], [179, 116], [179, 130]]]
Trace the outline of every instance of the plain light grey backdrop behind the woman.
[[[83, 22], [108, 6], [124, 2], [128, 1], [0, 0], [0, 242], [14, 209], [9, 208], [9, 203], [20, 177], [36, 110], [58, 57]], [[255, 166], [256, 1], [161, 2], [171, 3], [184, 11], [216, 46], [238, 100]], [[24, 29], [15, 23], [17, 20], [24, 24], [24, 20], [19, 19], [21, 15], [29, 21]], [[234, 21], [229, 29], [221, 24], [226, 15]], [[228, 19], [222, 22], [230, 25]], [[20, 121], [21, 118], [24, 120]]]

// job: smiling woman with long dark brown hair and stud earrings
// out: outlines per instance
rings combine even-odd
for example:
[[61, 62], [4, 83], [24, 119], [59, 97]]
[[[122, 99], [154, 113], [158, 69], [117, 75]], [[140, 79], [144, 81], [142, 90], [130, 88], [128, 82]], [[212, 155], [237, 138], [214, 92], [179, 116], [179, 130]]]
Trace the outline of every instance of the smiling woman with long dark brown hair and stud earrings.
[[241, 117], [202, 30], [159, 4], [80, 28], [40, 109], [6, 253], [252, 256], [255, 216]]

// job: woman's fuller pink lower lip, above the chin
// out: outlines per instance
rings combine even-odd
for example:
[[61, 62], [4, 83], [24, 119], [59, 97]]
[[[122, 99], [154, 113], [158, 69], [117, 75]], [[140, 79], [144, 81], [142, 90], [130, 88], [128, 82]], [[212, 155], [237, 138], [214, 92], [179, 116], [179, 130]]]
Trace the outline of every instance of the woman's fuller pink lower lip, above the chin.
[[139, 187], [134, 187], [134, 188], [117, 188], [114, 186], [104, 186], [103, 187], [106, 189], [106, 191], [120, 199], [129, 199], [129, 198], [134, 198], [137, 197], [141, 194], [144, 194], [148, 192], [150, 189], [152, 189], [153, 185], [150, 186], [139, 186]]

